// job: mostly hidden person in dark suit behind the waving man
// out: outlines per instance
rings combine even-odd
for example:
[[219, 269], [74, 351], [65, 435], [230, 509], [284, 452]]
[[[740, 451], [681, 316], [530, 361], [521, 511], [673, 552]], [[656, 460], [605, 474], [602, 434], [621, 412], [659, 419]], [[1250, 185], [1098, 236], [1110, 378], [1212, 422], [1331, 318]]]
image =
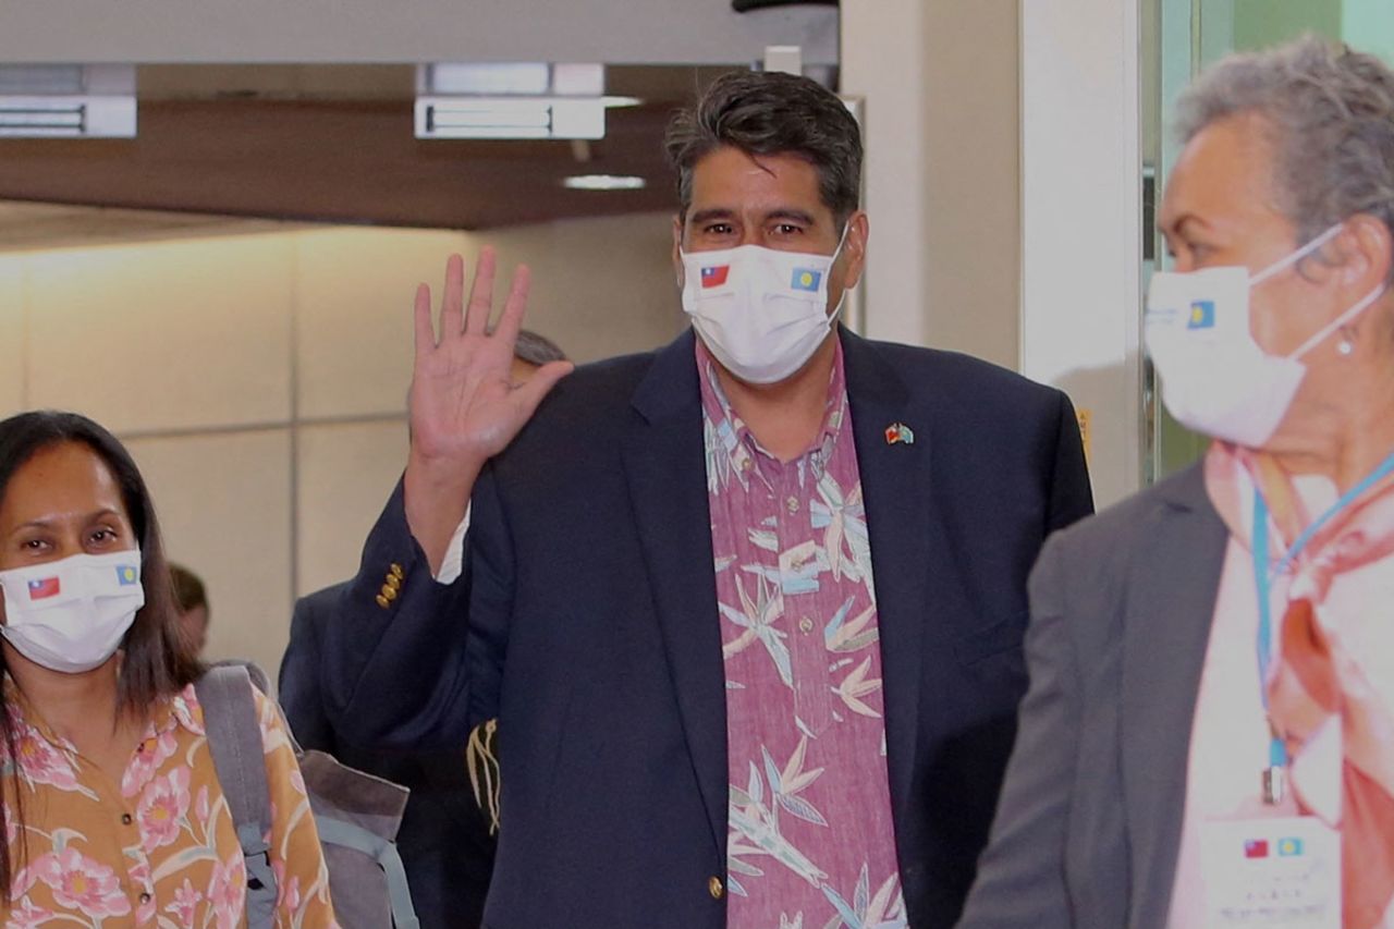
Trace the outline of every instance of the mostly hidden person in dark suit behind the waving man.
[[[566, 354], [546, 336], [519, 332], [510, 378], [521, 384], [538, 368]], [[421, 925], [470, 929], [480, 925], [493, 868], [495, 784], [475, 785], [466, 767], [466, 741], [438, 752], [381, 752], [355, 746], [335, 731], [325, 710], [321, 677], [325, 629], [336, 621], [346, 583], [301, 597], [290, 621], [277, 690], [290, 730], [301, 748], [336, 759], [411, 790], [397, 831], [397, 848]], [[480, 769], [488, 770], [493, 727], [471, 734]], [[488, 778], [475, 778], [488, 780]]]

